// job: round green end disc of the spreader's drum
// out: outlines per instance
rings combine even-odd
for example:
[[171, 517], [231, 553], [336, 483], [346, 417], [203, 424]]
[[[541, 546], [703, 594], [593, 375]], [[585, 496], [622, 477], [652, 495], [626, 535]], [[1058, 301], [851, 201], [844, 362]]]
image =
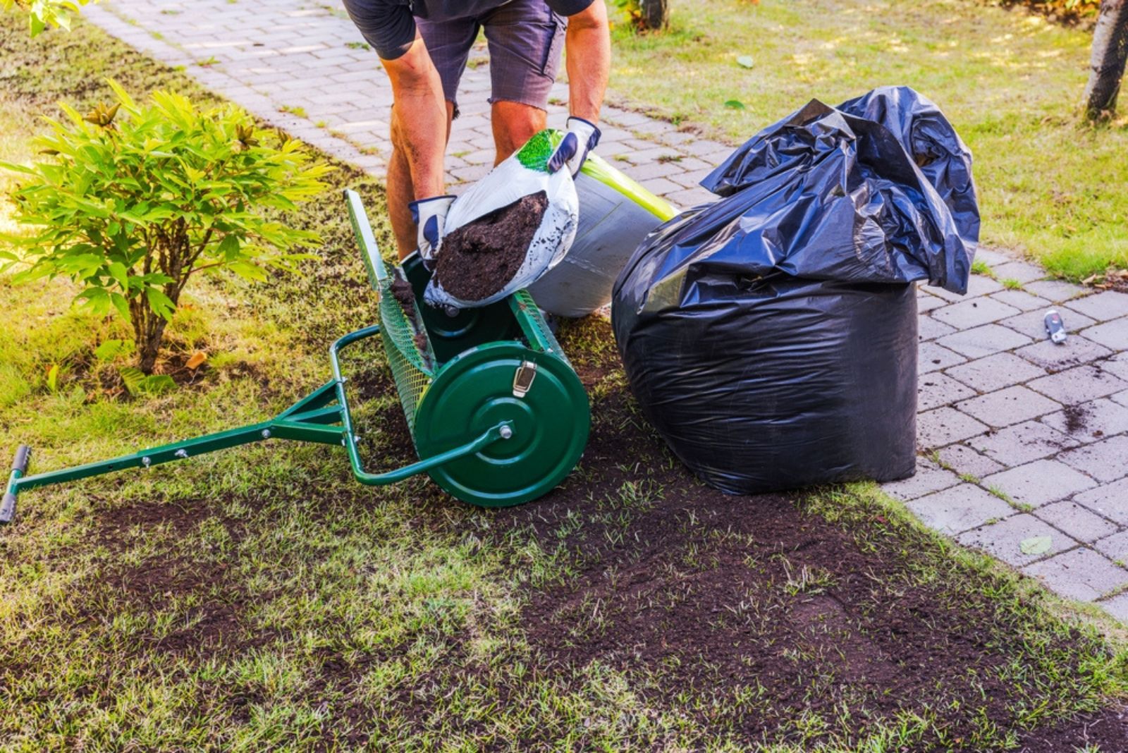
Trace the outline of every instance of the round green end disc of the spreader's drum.
[[[529, 369], [528, 362], [536, 364]], [[528, 391], [514, 378], [532, 373]], [[455, 497], [483, 507], [519, 505], [564, 480], [588, 443], [588, 395], [572, 367], [518, 343], [488, 343], [443, 365], [415, 411], [415, 446], [430, 458], [501, 422], [512, 435], [429, 471]]]

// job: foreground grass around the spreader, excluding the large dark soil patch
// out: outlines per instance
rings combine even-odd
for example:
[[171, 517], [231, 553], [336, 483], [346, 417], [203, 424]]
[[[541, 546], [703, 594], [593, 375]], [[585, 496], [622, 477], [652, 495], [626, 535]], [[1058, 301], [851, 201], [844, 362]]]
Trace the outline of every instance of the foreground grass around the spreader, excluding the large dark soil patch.
[[[113, 70], [134, 91], [159, 81], [205, 96], [88, 26], [55, 38], [70, 50], [68, 67], [19, 67], [34, 79], [24, 80], [24, 91], [85, 91], [85, 81]], [[19, 54], [33, 56], [26, 47]], [[27, 97], [7, 103], [19, 112], [0, 112], [15, 124], [0, 133], [0, 158], [29, 157], [38, 106]], [[382, 191], [353, 172], [338, 178], [362, 192], [377, 237], [390, 248]], [[194, 286], [170, 326], [168, 351], [204, 349], [205, 373], [159, 397], [131, 398], [96, 378], [94, 370], [127, 362], [91, 358], [99, 342], [129, 337], [123, 322], [71, 308], [64, 281], [14, 285], [0, 277], [0, 452], [28, 442], [33, 472], [88, 462], [261, 420], [320, 384], [328, 342], [371, 324], [374, 298], [337, 192], [302, 219], [326, 238], [317, 249], [324, 263], [306, 277], [265, 285]], [[579, 366], [600, 363], [615, 347], [591, 321], [566, 342]], [[52, 388], [46, 373], [54, 364]], [[390, 382], [379, 346], [358, 348], [346, 367]], [[599, 400], [624, 389], [615, 370], [591, 393]], [[389, 441], [381, 425], [398, 410], [390, 387], [358, 405], [364, 442], [384, 467], [412, 457], [403, 436]], [[677, 461], [668, 454], [664, 462]], [[585, 525], [628, 541], [631, 521], [662, 504], [652, 468], [625, 457], [620, 470], [620, 485], [593, 489], [592, 506], [570, 511], [540, 540], [512, 525], [508, 511], [459, 504], [418, 478], [362, 487], [340, 450], [281, 442], [28, 491], [16, 524], [0, 530], [0, 748], [356, 750], [367, 742], [376, 750], [476, 751], [539, 742], [561, 751], [750, 750], [755, 742], [695, 714], [714, 702], [754, 703], [752, 673], [731, 694], [687, 690], [679, 706], [647, 696], [669, 682], [662, 667], [628, 672], [598, 659], [552, 666], [529, 645], [526, 590], [566, 586], [592, 556], [552, 542]], [[581, 462], [574, 482], [588, 482], [585, 473]], [[913, 528], [872, 486], [805, 499], [797, 504], [843, 525], [858, 546], [901, 542], [911, 560], [902, 572], [908, 582], [942, 587], [952, 600], [993, 590], [1019, 626], [1011, 631], [1001, 621], [985, 636], [1015, 641], [1014, 663], [1001, 671], [1013, 672], [1015, 684], [1020, 673], [1037, 672], [1070, 691], [1049, 699], [1032, 692], [1024, 719], [1052, 721], [1120, 692], [1119, 659], [1095, 634], [1085, 632], [1083, 645], [1061, 641], [1073, 623], [1050, 614], [1034, 586]], [[872, 526], [875, 515], [891, 524]], [[697, 523], [688, 519], [686, 525]], [[778, 587], [816, 593], [831, 587], [831, 575], [799, 569]], [[599, 629], [584, 606], [587, 621], [576, 628]], [[217, 620], [223, 629], [210, 643], [192, 643]], [[1083, 671], [1061, 677], [1078, 654]], [[913, 750], [943, 734], [928, 709], [880, 720], [864, 715], [811, 710], [775, 734], [804, 742], [751, 750], [792, 753], [819, 741], [828, 751], [875, 753]], [[1015, 734], [987, 729], [976, 742], [986, 750]]]

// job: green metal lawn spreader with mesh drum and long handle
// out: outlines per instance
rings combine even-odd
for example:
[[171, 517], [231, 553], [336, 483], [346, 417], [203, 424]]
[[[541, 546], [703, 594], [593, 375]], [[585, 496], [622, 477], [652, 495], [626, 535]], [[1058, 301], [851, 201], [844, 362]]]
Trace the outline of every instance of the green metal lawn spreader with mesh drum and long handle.
[[[249, 426], [141, 450], [100, 462], [27, 475], [30, 451], [16, 452], [0, 503], [0, 523], [11, 521], [21, 491], [150, 468], [264, 440], [341, 445], [361, 484], [382, 486], [428, 473], [452, 496], [473, 505], [518, 505], [546, 494], [567, 476], [588, 441], [588, 396], [526, 291], [457, 313], [420, 307], [414, 316], [391, 294], [394, 276], [380, 259], [360, 196], [345, 192], [356, 241], [379, 295], [379, 325], [329, 347], [333, 379], [281, 414]], [[422, 300], [430, 272], [417, 255], [399, 267]], [[373, 473], [364, 469], [341, 373], [341, 352], [380, 335], [399, 401], [420, 460]]]

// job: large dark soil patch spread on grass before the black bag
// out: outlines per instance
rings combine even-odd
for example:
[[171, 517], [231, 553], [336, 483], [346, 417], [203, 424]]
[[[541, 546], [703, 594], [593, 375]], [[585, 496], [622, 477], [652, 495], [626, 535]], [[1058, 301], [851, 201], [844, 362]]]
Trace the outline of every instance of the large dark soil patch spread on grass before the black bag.
[[[584, 381], [617, 369], [609, 355]], [[1014, 656], [993, 639], [1013, 615], [984, 590], [924, 584], [913, 573], [926, 560], [902, 535], [863, 547], [799, 496], [700, 485], [623, 390], [592, 414], [581, 470], [511, 513], [574, 573], [527, 590], [539, 673], [610, 665], [650, 703], [741, 739], [778, 739], [840, 706], [856, 734], [925, 709], [953, 739], [975, 734], [977, 714], [1013, 728], [1014, 681], [999, 674]], [[875, 513], [865, 525], [887, 523]]]

